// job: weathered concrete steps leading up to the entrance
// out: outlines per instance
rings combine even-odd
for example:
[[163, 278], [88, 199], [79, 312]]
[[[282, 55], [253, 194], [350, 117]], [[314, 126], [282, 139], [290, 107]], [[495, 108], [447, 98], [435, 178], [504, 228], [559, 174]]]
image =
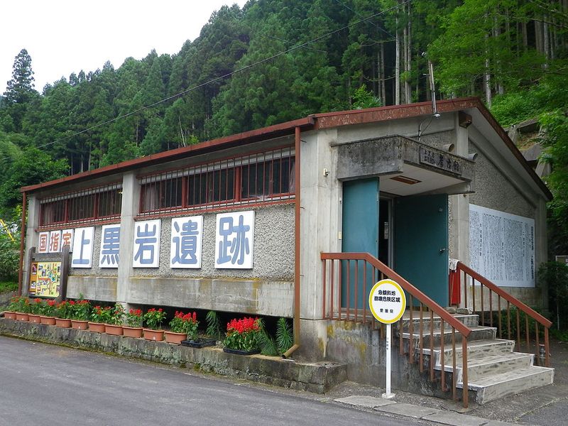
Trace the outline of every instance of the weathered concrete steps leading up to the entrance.
[[[479, 315], [454, 315], [472, 329], [467, 342], [468, 389], [476, 393], [476, 403], [484, 404], [507, 395], [545, 386], [554, 380], [554, 368], [534, 365], [534, 354], [515, 352], [515, 342], [496, 339], [495, 327], [480, 327]], [[403, 339], [410, 344], [410, 320], [403, 319]], [[413, 351], [415, 359], [420, 355], [420, 320], [413, 318]], [[434, 318], [434, 332], [430, 336], [430, 317], [422, 324], [422, 355], [431, 356], [437, 371], [452, 373], [452, 329], [444, 324], [444, 366], [442, 367], [442, 332], [439, 318]], [[430, 340], [434, 349], [430, 353]], [[463, 388], [461, 335], [455, 333], [457, 388]], [[448, 382], [451, 386], [451, 381]]]

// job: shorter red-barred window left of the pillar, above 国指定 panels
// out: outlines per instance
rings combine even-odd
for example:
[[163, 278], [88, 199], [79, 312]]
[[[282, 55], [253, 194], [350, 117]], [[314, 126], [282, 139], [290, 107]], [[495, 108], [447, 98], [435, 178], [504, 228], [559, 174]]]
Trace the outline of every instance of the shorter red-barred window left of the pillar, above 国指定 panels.
[[90, 188], [40, 200], [40, 227], [120, 217], [121, 185]]

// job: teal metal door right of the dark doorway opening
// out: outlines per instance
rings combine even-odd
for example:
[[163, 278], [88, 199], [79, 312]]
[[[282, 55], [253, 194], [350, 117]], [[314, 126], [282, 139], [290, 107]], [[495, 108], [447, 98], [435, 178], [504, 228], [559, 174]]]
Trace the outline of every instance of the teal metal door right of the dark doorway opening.
[[395, 200], [395, 271], [439, 305], [448, 304], [448, 196]]

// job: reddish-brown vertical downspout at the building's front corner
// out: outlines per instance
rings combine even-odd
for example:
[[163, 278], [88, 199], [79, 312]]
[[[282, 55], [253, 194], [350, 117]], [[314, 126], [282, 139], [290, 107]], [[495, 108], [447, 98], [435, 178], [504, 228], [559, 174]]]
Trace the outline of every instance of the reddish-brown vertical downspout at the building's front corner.
[[287, 359], [300, 347], [300, 127], [295, 129], [295, 227], [294, 227], [294, 344], [282, 354]]

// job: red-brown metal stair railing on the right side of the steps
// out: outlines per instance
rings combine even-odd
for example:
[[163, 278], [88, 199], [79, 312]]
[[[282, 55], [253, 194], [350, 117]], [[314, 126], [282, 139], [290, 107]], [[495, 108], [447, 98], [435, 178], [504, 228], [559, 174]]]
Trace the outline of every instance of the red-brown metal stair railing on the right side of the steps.
[[[489, 327], [495, 326], [497, 328], [497, 336], [503, 339], [506, 333], [506, 339], [515, 341], [515, 350], [521, 351], [521, 324], [520, 312], [525, 315], [524, 334], [525, 334], [525, 348], [530, 354], [532, 352], [530, 347], [530, 325], [529, 318], [535, 323], [535, 360], [545, 359], [545, 366], [550, 367], [550, 354], [548, 344], [548, 330], [552, 322], [540, 315], [535, 310], [525, 305], [520, 300], [516, 299], [506, 291], [499, 288], [497, 285], [491, 283], [490, 280], [485, 278], [473, 269], [465, 266], [463, 263], [457, 263], [457, 270], [460, 271], [461, 294], [464, 296], [464, 305], [471, 307], [474, 312], [480, 312], [481, 324], [486, 324]], [[470, 290], [471, 288], [471, 290]], [[485, 293], [485, 295], [484, 295]], [[511, 333], [511, 305], [515, 307], [515, 329]], [[494, 309], [496, 307], [496, 310]], [[487, 309], [488, 308], [488, 309]], [[503, 324], [503, 315], [506, 316], [506, 324]], [[542, 327], [545, 343], [544, 347], [540, 344], [540, 328]], [[513, 336], [511, 336], [513, 334]], [[544, 354], [542, 354], [544, 351]]]

